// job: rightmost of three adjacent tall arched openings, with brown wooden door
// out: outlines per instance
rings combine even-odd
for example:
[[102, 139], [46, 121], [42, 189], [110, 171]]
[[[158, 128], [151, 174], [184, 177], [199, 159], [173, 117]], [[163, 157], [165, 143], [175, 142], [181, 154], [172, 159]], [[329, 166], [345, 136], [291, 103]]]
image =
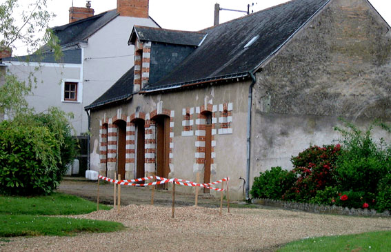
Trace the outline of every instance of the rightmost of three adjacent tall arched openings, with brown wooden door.
[[[156, 175], [168, 178], [170, 173], [170, 117], [158, 115], [154, 117], [156, 122]], [[168, 184], [162, 184], [157, 188], [168, 188]]]

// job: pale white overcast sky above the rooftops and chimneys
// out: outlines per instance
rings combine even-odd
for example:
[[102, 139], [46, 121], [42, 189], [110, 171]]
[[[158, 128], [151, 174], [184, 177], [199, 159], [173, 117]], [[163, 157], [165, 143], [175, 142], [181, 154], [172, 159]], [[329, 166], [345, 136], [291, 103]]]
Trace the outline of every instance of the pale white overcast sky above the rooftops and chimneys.
[[[4, 0], [0, 0], [3, 2]], [[31, 2], [32, 0], [19, 0]], [[221, 8], [247, 10], [248, 3], [254, 3], [250, 8], [254, 12], [265, 8], [285, 3], [288, 0], [150, 0], [150, 17], [162, 28], [174, 30], [202, 30], [213, 26], [214, 3], [219, 3]], [[391, 0], [370, 0], [383, 18], [391, 24]], [[117, 0], [92, 0], [92, 8], [95, 14], [117, 8]], [[57, 15], [50, 27], [61, 26], [68, 23], [69, 8], [72, 0], [48, 0], [48, 8]], [[86, 0], [73, 0], [74, 7], [85, 7]], [[245, 13], [222, 10], [220, 23], [244, 16]], [[21, 55], [23, 49], [18, 49], [14, 55]]]

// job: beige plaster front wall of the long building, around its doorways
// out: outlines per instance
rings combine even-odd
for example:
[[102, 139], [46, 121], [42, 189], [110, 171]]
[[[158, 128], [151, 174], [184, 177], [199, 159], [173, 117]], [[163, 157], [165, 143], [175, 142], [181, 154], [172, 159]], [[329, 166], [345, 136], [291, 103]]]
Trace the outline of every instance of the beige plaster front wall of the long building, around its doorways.
[[[223, 177], [230, 177], [230, 197], [232, 199], [241, 199], [243, 192], [243, 181], [239, 177], [245, 177], [245, 150], [246, 150], [246, 120], [247, 120], [247, 96], [250, 82], [238, 82], [219, 86], [207, 86], [194, 88], [192, 90], [177, 91], [174, 93], [162, 93], [158, 95], [134, 95], [126, 104], [112, 106], [102, 110], [92, 110], [91, 124], [91, 169], [99, 171], [99, 148], [93, 148], [99, 143], [99, 120], [108, 119], [117, 114], [132, 115], [137, 106], [140, 113], [150, 113], [152, 110], [161, 106], [164, 109], [174, 111], [173, 127], [173, 148], [172, 165], [170, 165], [170, 177], [177, 177], [184, 180], [196, 180], [197, 169], [194, 168], [196, 160], [195, 153], [197, 147], [195, 135], [183, 136], [183, 108], [194, 108], [194, 115], [197, 107], [208, 106], [217, 111], [219, 105], [232, 103], [232, 134], [214, 135], [216, 146], [214, 147], [214, 172], [212, 171], [211, 182], [220, 180]], [[216, 113], [217, 121], [219, 112]], [[193, 117], [195, 131], [195, 120]], [[216, 125], [219, 129], [219, 124]], [[218, 132], [218, 131], [217, 131]], [[213, 168], [212, 168], [213, 169]], [[203, 182], [203, 176], [200, 176], [200, 182]], [[218, 186], [221, 186], [219, 184]], [[182, 192], [192, 193], [194, 188], [178, 186]], [[201, 190], [200, 190], [201, 191]], [[211, 191], [212, 195], [216, 195]]]

